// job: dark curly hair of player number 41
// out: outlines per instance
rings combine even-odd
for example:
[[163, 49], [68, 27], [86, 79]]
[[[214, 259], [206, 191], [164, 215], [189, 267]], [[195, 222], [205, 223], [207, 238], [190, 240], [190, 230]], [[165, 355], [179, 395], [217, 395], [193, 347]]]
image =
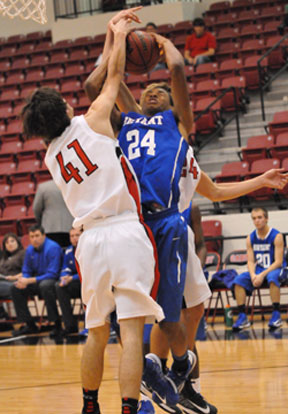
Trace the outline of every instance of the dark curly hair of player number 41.
[[24, 134], [27, 138], [42, 137], [48, 145], [70, 125], [66, 109], [65, 101], [55, 89], [37, 89], [22, 109]]

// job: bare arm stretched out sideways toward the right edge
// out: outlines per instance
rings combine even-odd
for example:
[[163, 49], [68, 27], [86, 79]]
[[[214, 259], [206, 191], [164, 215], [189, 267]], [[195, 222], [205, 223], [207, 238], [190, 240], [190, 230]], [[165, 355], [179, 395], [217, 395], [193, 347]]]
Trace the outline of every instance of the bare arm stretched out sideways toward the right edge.
[[262, 187], [282, 189], [287, 183], [288, 173], [283, 173], [281, 169], [269, 170], [250, 180], [223, 184], [214, 183], [206, 173], [201, 171], [196, 191], [211, 201], [224, 201], [241, 197]]

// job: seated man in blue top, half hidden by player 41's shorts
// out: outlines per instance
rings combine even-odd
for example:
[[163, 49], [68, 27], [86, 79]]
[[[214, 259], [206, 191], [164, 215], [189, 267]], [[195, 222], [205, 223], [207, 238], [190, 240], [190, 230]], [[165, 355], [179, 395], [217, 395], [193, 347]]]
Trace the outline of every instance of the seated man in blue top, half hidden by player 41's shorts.
[[75, 249], [81, 235], [79, 229], [70, 230], [71, 246], [67, 247], [64, 254], [63, 266], [60, 273], [60, 281], [56, 283], [57, 298], [61, 307], [62, 318], [65, 326], [64, 335], [78, 332], [77, 320], [73, 315], [71, 306], [72, 298], [81, 297], [81, 285], [75, 265]]

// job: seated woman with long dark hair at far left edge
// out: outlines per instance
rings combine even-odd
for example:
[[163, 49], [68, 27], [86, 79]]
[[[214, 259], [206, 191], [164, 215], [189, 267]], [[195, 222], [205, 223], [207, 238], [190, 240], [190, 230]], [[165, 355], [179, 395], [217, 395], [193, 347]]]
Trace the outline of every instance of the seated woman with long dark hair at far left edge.
[[[22, 265], [25, 250], [14, 233], [7, 233], [3, 238], [3, 250], [0, 259], [0, 299], [11, 299], [11, 288], [22, 276]], [[0, 317], [5, 316], [3, 306], [0, 306]]]

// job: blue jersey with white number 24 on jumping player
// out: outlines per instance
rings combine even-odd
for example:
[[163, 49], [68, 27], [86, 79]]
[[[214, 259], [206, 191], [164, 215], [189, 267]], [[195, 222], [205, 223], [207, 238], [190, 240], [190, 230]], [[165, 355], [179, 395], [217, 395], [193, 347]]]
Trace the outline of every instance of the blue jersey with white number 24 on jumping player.
[[129, 112], [122, 114], [122, 123], [118, 140], [138, 177], [142, 203], [177, 206], [188, 144], [173, 112], [159, 112], [152, 117]]

